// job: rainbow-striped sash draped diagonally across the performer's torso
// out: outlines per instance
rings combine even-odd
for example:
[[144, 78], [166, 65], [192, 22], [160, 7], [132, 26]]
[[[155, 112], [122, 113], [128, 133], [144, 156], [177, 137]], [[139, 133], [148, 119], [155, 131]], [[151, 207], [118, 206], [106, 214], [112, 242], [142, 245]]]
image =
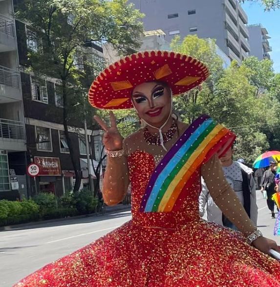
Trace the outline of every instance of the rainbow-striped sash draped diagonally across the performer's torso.
[[177, 211], [194, 173], [215, 153], [224, 154], [236, 136], [207, 115], [197, 118], [153, 171], [142, 198], [142, 212]]

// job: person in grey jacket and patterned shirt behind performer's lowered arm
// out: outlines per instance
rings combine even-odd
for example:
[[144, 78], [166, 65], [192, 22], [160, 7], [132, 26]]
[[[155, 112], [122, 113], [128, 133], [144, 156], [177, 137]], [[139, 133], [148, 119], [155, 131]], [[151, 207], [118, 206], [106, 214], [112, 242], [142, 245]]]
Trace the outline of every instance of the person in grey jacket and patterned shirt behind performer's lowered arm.
[[[253, 170], [247, 165], [239, 161], [233, 161], [234, 147], [232, 146], [221, 158], [225, 177], [241, 204], [244, 206], [248, 216], [257, 225], [258, 206], [256, 200], [256, 184], [253, 176]], [[214, 222], [219, 225], [224, 225], [233, 229], [237, 229], [235, 225], [228, 220], [215, 204], [211, 197], [208, 188], [202, 179], [202, 189], [199, 196], [199, 214], [201, 217], [205, 216], [207, 221]]]

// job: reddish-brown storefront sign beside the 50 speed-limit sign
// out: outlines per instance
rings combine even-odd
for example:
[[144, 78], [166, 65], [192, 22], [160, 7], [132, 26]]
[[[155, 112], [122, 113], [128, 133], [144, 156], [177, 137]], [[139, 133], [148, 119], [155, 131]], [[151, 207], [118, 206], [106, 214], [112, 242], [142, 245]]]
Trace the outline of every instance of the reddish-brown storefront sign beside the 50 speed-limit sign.
[[34, 157], [34, 163], [39, 166], [38, 175], [61, 175], [59, 158]]

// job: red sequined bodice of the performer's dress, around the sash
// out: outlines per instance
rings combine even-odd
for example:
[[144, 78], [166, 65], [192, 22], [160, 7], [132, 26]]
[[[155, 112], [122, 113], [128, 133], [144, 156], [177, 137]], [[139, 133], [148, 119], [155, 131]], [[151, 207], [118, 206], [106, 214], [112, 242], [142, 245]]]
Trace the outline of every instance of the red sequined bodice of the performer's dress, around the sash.
[[174, 212], [140, 212], [139, 207], [151, 174], [156, 167], [153, 155], [136, 150], [129, 155], [129, 179], [131, 183], [131, 211], [135, 224], [175, 228], [199, 220], [198, 196], [200, 192], [200, 174], [196, 179], [192, 192], [188, 192], [181, 208]]

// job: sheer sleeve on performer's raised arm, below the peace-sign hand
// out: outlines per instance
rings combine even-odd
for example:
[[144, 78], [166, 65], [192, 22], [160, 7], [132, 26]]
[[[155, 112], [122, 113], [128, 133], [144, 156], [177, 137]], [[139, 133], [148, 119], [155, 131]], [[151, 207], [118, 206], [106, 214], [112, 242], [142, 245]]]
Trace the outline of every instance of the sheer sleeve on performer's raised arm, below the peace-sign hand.
[[117, 205], [123, 201], [129, 186], [127, 144], [123, 144], [124, 155], [117, 158], [107, 157], [103, 183], [103, 199], [107, 205]]

